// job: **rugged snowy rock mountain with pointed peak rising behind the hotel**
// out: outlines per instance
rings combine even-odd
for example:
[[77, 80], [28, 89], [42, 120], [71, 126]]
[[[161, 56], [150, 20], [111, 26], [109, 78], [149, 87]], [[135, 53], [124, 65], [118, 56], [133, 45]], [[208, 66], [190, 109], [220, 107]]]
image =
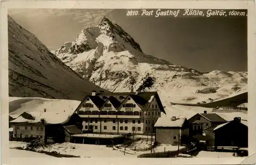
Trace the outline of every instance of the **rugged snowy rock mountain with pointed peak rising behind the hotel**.
[[158, 91], [163, 102], [197, 103], [247, 90], [247, 72], [201, 73], [148, 56], [106, 17], [52, 52], [84, 79], [112, 92], [141, 89], [150, 77], [145, 90]]

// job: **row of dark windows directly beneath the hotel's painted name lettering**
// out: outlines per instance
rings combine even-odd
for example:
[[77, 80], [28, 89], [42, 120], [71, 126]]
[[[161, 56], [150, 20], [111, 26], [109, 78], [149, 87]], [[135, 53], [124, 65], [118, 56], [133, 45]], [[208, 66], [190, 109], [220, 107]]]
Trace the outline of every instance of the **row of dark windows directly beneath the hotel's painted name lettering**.
[[127, 116], [141, 116], [141, 112], [135, 111], [78, 111], [78, 115], [127, 115]]

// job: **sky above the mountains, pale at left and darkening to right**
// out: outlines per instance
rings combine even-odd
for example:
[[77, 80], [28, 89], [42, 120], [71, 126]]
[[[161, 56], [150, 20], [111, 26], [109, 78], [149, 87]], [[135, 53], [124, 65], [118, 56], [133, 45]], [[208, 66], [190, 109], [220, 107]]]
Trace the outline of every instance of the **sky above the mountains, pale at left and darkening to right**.
[[126, 17], [126, 10], [99, 9], [12, 9], [8, 14], [50, 50], [74, 41], [106, 16], [146, 54], [202, 72], [247, 71], [246, 18]]

